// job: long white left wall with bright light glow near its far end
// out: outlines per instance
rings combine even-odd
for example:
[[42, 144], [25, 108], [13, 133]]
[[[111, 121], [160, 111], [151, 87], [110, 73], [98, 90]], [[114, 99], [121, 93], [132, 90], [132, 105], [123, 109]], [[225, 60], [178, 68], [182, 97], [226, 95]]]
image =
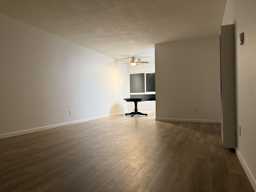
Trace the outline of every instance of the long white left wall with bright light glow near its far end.
[[0, 138], [127, 111], [119, 61], [2, 14], [0, 26]]

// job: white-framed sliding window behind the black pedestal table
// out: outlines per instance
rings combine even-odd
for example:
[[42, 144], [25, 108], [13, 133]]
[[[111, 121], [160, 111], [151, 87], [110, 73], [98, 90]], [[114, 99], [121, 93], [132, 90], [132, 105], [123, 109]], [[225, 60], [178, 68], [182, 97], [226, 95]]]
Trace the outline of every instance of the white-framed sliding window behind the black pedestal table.
[[130, 98], [149, 98], [155, 101], [155, 73], [130, 73]]

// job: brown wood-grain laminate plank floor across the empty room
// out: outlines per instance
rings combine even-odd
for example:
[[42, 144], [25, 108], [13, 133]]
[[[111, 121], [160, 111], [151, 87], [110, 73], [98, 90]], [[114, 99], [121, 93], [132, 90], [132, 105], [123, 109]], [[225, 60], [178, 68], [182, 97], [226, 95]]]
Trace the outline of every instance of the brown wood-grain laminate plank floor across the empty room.
[[0, 139], [0, 191], [253, 191], [220, 124], [112, 116]]

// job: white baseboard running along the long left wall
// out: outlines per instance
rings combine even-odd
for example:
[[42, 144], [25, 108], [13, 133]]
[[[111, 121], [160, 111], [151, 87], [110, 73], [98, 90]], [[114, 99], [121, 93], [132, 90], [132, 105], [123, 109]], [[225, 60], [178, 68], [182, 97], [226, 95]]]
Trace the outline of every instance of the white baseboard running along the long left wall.
[[113, 114], [109, 114], [109, 115], [92, 117], [92, 118], [88, 118], [88, 119], [69, 121], [69, 122], [65, 122], [65, 123], [58, 123], [58, 124], [54, 124], [54, 125], [47, 125], [47, 126], [43, 126], [43, 127], [37, 127], [37, 128], [26, 129], [26, 130], [22, 130], [22, 131], [5, 133], [5, 134], [0, 135], [0, 139], [6, 138], [6, 137], [17, 136], [17, 135], [23, 135], [23, 134], [26, 134], [26, 133], [33, 133], [33, 132], [42, 131], [42, 130], [46, 130], [46, 129], [52, 129], [52, 128], [56, 128], [56, 127], [62, 127], [62, 126], [65, 126], [65, 125], [71, 125], [71, 124], [75, 124], [75, 123], [81, 123], [81, 122], [85, 122], [85, 121], [89, 121], [89, 120], [101, 119], [101, 118], [104, 118], [104, 117], [110, 117], [110, 116], [120, 115], [120, 114], [124, 114], [124, 113], [125, 112], [113, 113]]

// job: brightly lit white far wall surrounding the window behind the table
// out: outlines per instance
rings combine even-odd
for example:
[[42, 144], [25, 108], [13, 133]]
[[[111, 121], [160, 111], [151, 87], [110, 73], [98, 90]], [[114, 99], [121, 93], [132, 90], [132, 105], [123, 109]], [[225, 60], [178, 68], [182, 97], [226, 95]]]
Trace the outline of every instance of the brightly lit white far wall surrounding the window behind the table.
[[[143, 59], [142, 61], [146, 61]], [[148, 61], [148, 60], [147, 60]], [[129, 73], [155, 71], [155, 62], [149, 60], [149, 63], [141, 63], [136, 66], [127, 64], [127, 93], [129, 94]], [[127, 95], [127, 98], [130, 98]], [[150, 107], [151, 106], [151, 107]], [[127, 110], [134, 111], [134, 102], [127, 102]], [[138, 111], [144, 113], [155, 113], [155, 101], [138, 102]]]

